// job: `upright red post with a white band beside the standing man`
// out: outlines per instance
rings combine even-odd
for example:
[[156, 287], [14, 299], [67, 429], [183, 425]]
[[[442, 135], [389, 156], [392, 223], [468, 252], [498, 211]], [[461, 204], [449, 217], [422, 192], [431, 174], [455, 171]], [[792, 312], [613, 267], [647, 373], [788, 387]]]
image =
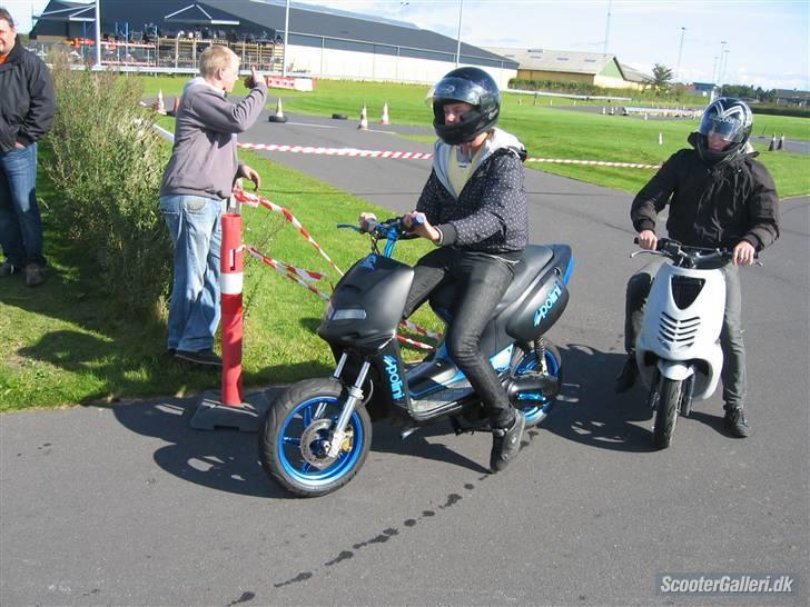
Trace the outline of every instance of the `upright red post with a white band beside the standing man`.
[[245, 248], [241, 216], [223, 215], [223, 248], [219, 258], [219, 290], [223, 310], [223, 405], [241, 407], [241, 338], [245, 310], [241, 306]]

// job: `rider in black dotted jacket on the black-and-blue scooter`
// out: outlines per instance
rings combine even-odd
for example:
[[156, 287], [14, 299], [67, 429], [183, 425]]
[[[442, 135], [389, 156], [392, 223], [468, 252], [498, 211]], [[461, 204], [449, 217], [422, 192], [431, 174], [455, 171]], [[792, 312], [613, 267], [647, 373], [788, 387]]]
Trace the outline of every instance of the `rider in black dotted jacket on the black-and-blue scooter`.
[[[517, 455], [525, 419], [511, 405], [480, 342], [529, 241], [525, 149], [512, 135], [494, 128], [501, 97], [485, 71], [453, 70], [433, 88], [429, 99], [439, 138], [433, 170], [416, 210], [403, 222], [437, 249], [414, 267], [405, 317], [439, 285], [460, 286], [456, 320], [447, 328], [445, 344], [490, 417], [494, 436], [490, 467], [496, 472]], [[368, 217], [364, 213], [360, 220]]]

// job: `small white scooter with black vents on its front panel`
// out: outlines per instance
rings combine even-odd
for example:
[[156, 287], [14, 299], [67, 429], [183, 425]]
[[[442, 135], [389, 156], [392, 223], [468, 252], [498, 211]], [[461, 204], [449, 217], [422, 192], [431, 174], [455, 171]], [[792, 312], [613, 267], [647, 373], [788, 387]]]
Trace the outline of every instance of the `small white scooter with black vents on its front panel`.
[[[638, 242], [638, 239], [636, 239]], [[672, 442], [678, 415], [689, 417], [692, 399], [710, 398], [723, 368], [720, 331], [725, 309], [725, 277], [721, 266], [731, 259], [728, 249], [685, 247], [662, 238], [656, 250], [663, 263], [655, 275], [644, 309], [635, 359], [650, 387], [655, 411], [653, 445]]]

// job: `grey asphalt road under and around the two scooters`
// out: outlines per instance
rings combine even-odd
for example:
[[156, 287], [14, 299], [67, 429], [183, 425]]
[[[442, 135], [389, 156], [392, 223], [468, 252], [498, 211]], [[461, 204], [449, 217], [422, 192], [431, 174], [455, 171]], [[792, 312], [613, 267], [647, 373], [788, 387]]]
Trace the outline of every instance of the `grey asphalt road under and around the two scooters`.
[[[292, 122], [337, 121], [263, 122], [243, 140], [428, 150]], [[428, 172], [267, 156], [397, 211]], [[532, 240], [570, 242], [577, 266], [551, 332], [562, 401], [506, 471], [486, 474], [488, 436], [377, 426], [347, 487], [300, 500], [263, 476], [254, 435], [191, 430], [194, 399], [0, 416], [0, 604], [807, 605], [810, 199], [782, 203], [781, 239], [743, 271], [751, 438], [725, 435], [715, 396], [652, 451], [644, 391], [612, 392], [642, 262], [631, 197], [536, 171], [526, 189]], [[665, 574], [794, 581], [695, 597], [660, 594]]]

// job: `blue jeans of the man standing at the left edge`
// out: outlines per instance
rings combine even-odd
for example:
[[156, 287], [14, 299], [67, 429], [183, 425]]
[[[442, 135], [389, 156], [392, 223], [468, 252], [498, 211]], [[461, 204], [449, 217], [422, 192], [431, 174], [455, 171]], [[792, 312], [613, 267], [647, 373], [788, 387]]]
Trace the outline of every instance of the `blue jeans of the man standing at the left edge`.
[[18, 268], [47, 263], [37, 206], [37, 143], [0, 152], [0, 245]]

